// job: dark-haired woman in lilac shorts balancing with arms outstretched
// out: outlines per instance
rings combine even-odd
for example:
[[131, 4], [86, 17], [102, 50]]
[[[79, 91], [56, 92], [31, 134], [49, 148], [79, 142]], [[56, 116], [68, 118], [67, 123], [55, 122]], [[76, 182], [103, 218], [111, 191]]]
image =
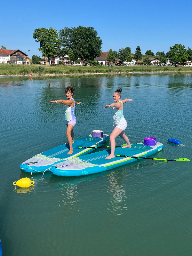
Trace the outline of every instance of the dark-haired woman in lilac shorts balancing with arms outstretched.
[[68, 155], [73, 154], [73, 148], [72, 148], [72, 143], [74, 143], [74, 133], [73, 133], [73, 127], [76, 124], [76, 116], [74, 113], [75, 110], [75, 104], [80, 104], [81, 102], [76, 102], [73, 99], [74, 95], [74, 88], [68, 86], [65, 89], [65, 95], [67, 97], [67, 100], [53, 100], [50, 101], [51, 103], [61, 103], [65, 105], [65, 122], [67, 124], [67, 139], [68, 139], [68, 144], [69, 144], [69, 152], [67, 153]]

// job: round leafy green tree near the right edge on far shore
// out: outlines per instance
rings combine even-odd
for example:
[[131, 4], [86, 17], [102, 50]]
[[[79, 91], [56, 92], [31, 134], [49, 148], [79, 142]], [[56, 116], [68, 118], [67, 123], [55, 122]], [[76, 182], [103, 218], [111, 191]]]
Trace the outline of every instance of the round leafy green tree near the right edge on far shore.
[[183, 63], [186, 60], [188, 60], [188, 52], [187, 49], [185, 49], [185, 46], [182, 44], [175, 44], [172, 47], [170, 47], [170, 59], [174, 62], [176, 62], [176, 65], [178, 66], [178, 63]]

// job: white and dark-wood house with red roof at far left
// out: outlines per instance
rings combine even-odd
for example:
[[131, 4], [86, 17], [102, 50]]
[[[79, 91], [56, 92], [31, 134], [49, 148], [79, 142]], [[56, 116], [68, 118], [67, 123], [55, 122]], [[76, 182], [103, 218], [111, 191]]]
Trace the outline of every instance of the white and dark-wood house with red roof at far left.
[[27, 64], [27, 54], [20, 50], [4, 50], [0, 49], [0, 63], [7, 63], [10, 61], [11, 64]]

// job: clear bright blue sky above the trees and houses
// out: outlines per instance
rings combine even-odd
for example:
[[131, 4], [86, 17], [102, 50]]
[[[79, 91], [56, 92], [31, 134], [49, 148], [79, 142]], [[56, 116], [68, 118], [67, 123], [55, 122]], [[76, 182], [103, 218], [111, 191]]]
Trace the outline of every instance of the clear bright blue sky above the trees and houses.
[[118, 51], [139, 45], [142, 54], [169, 51], [174, 44], [192, 48], [192, 1], [3, 1], [0, 45], [20, 49], [30, 57], [39, 43], [32, 38], [36, 28], [93, 27], [102, 39], [102, 51]]

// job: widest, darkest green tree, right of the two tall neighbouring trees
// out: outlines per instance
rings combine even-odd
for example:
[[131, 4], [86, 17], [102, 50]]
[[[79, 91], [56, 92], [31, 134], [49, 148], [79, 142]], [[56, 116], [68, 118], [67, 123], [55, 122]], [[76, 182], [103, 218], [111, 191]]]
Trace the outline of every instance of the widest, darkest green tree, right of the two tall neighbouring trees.
[[101, 54], [102, 40], [97, 36], [97, 31], [92, 27], [77, 26], [76, 28], [62, 28], [59, 32], [60, 53], [69, 49], [75, 55], [75, 59], [94, 60]]

